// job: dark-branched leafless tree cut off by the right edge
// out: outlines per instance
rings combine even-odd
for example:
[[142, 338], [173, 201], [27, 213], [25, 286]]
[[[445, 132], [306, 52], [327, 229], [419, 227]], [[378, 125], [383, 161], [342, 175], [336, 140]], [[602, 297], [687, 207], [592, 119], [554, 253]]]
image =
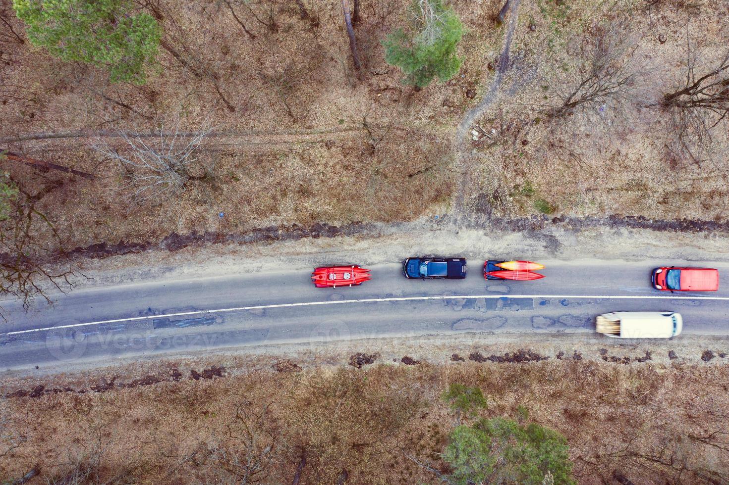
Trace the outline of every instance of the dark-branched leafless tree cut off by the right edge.
[[708, 149], [712, 130], [729, 119], [729, 50], [701, 65], [687, 39], [686, 56], [681, 84], [666, 92], [661, 104], [671, 114], [675, 148], [698, 163], [695, 149]]

